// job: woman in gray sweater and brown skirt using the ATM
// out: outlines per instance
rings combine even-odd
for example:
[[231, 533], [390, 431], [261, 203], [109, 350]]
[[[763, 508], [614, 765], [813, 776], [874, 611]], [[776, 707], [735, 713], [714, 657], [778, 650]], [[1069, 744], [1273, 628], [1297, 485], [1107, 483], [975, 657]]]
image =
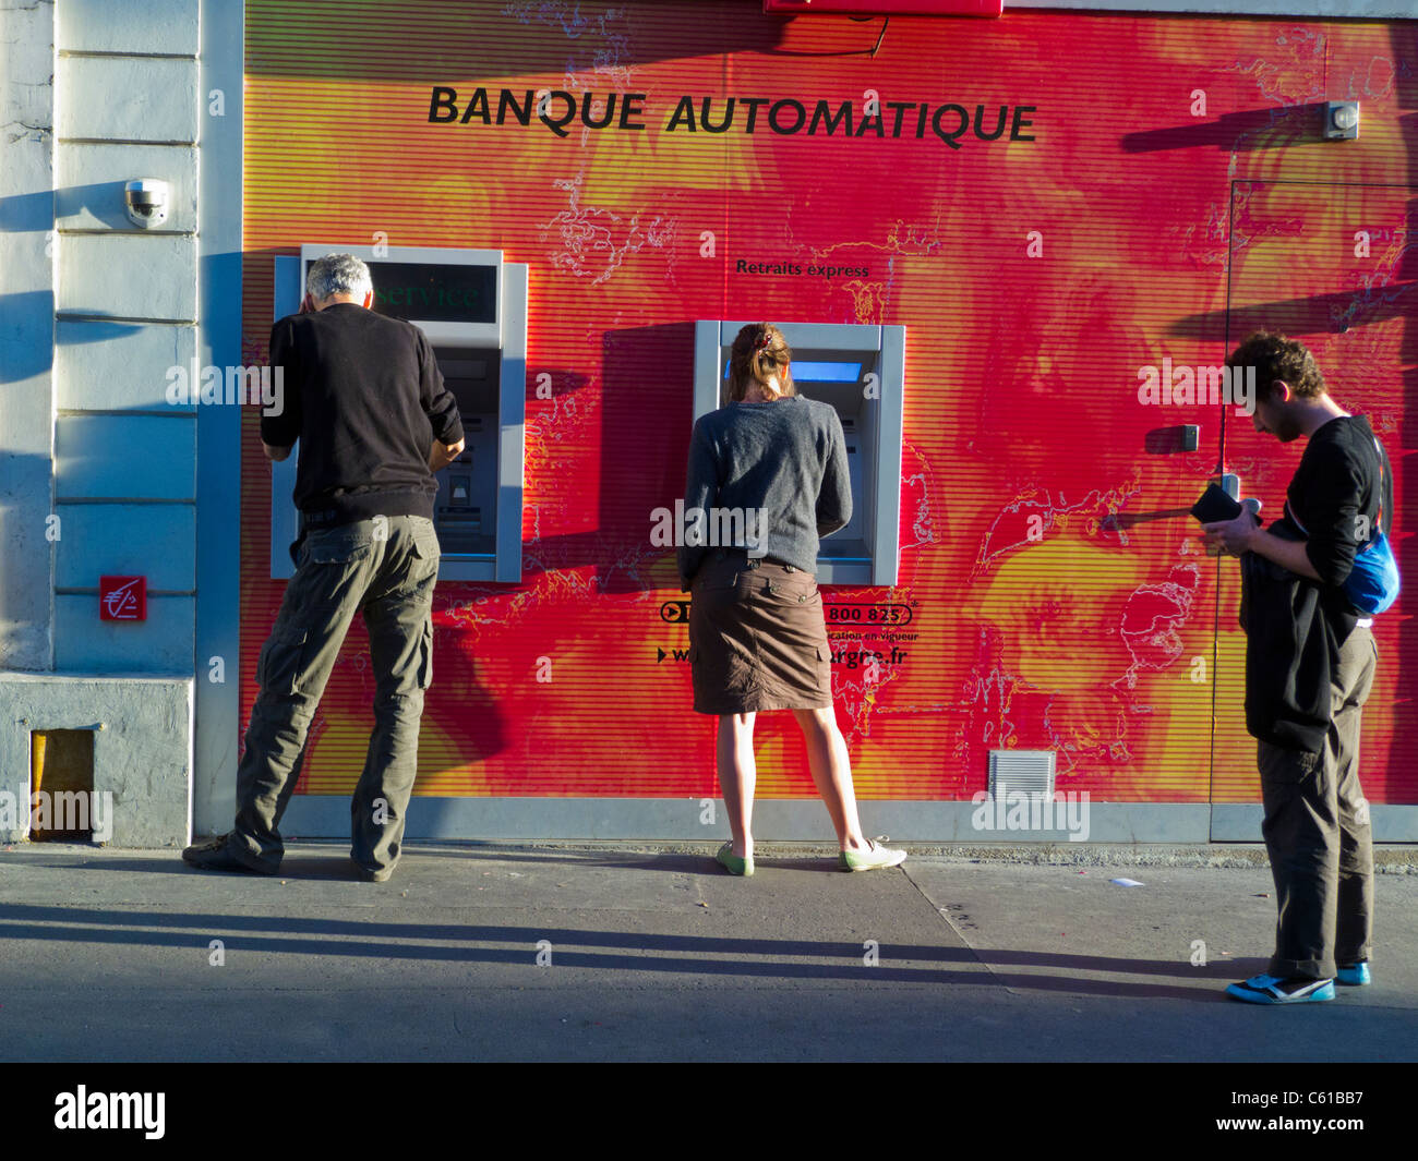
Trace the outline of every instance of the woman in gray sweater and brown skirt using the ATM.
[[743, 327], [729, 354], [730, 403], [695, 422], [689, 448], [683, 539], [696, 543], [679, 549], [679, 577], [692, 593], [695, 710], [719, 717], [719, 785], [733, 841], [718, 860], [732, 875], [753, 875], [753, 722], [761, 710], [791, 710], [803, 730], [837, 829], [838, 866], [872, 870], [906, 858], [864, 836], [856, 818], [814, 576], [818, 537], [852, 515], [847, 444], [837, 411], [794, 390], [791, 359], [776, 326]]

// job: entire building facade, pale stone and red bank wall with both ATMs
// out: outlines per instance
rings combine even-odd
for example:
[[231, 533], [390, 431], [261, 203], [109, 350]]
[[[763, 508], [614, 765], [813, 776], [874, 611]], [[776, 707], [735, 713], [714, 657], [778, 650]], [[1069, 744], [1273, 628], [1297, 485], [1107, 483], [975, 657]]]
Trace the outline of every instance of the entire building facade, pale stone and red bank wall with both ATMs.
[[[109, 841], [225, 829], [289, 576], [267, 336], [303, 261], [356, 249], [475, 417], [411, 836], [723, 829], [661, 533], [753, 319], [849, 437], [820, 578], [868, 825], [1079, 836], [983, 812], [1008, 784], [1088, 801], [1090, 841], [1259, 835], [1235, 561], [1184, 510], [1211, 479], [1279, 509], [1297, 449], [1217, 369], [1285, 330], [1385, 441], [1412, 563], [1418, 23], [763, 7], [0, 7], [0, 794], [30, 800], [35, 733], [88, 731]], [[1366, 712], [1378, 841], [1418, 838], [1404, 607]], [[294, 834], [347, 829], [363, 646]], [[822, 836], [791, 726], [761, 722], [759, 771], [761, 834]]]

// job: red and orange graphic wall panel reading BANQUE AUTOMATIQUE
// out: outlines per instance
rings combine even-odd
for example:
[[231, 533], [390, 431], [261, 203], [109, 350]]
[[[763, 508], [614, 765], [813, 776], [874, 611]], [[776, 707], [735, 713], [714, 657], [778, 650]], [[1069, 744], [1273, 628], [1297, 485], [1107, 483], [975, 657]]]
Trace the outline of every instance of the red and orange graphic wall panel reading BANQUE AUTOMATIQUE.
[[[1258, 326], [1313, 343], [1385, 439], [1418, 576], [1418, 26], [1021, 11], [893, 18], [873, 54], [879, 31], [757, 0], [248, 0], [248, 363], [272, 258], [302, 242], [530, 267], [523, 578], [440, 585], [417, 792], [716, 794], [688, 628], [661, 615], [683, 597], [674, 551], [649, 539], [683, 488], [696, 319], [906, 327], [900, 580], [825, 594], [862, 797], [968, 798], [988, 751], [1018, 747], [1056, 750], [1058, 788], [1095, 801], [1258, 798], [1236, 564], [1176, 509], [1224, 458], [1278, 512], [1299, 449], [1228, 407], [1141, 403], [1163, 360], [1218, 364]], [[547, 115], [522, 125], [539, 91]], [[1361, 102], [1357, 142], [1319, 139], [1340, 98]], [[242, 720], [284, 590], [257, 420]], [[1161, 454], [1181, 424], [1198, 449]], [[1404, 610], [1375, 628], [1378, 802], [1418, 801]], [[363, 651], [356, 627], [301, 792], [357, 778]], [[783, 714], [760, 720], [759, 794], [813, 794]]]

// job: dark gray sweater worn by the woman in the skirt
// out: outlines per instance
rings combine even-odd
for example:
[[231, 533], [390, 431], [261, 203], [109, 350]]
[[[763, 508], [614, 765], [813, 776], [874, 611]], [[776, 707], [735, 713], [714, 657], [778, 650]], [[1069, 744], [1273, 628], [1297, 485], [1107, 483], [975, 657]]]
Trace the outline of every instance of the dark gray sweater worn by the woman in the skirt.
[[[754, 553], [817, 573], [818, 539], [852, 519], [847, 441], [837, 410], [788, 396], [730, 403], [700, 415], [689, 441], [686, 530], [693, 509], [763, 509], [766, 537]], [[702, 527], [715, 523], [706, 520]], [[752, 523], [746, 527], [757, 530]], [[713, 547], [679, 546], [679, 581], [686, 593]]]

